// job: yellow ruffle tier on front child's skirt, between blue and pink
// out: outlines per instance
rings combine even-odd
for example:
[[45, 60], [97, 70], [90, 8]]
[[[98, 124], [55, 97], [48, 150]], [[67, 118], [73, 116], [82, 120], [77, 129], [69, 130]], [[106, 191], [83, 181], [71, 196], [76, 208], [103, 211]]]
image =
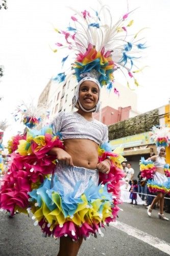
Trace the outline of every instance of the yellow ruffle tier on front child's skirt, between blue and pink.
[[[52, 224], [53, 228], [57, 224], [64, 224], [67, 221], [72, 221], [74, 224], [80, 226], [82, 223], [86, 222], [88, 224], [101, 223], [104, 222], [107, 217], [112, 215], [112, 209], [110, 202], [106, 201], [103, 204], [102, 199], [96, 199], [91, 203], [91, 208], [88, 206], [88, 201], [86, 196], [83, 194], [81, 199], [83, 203], [78, 204], [77, 209], [75, 210], [74, 216], [64, 217], [62, 207], [61, 207], [61, 197], [58, 193], [54, 192], [52, 194], [53, 202], [56, 204], [56, 209], [50, 211], [44, 201], [42, 201], [41, 207], [33, 206], [32, 212], [36, 219], [40, 221], [44, 219]], [[102, 214], [99, 213], [101, 204], [103, 204]]]

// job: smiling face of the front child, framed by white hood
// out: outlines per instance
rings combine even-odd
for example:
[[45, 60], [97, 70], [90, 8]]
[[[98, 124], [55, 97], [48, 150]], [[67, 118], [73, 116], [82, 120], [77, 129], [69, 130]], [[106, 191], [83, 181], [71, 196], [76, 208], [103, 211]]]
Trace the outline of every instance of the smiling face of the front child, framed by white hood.
[[90, 110], [98, 103], [99, 87], [93, 81], [82, 82], [79, 90], [79, 101], [84, 109]]

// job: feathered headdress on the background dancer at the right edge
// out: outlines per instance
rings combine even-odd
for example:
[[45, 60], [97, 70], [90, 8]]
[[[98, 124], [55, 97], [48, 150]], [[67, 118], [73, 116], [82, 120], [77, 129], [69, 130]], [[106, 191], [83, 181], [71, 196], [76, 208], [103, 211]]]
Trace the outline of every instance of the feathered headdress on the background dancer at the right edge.
[[167, 126], [153, 126], [150, 135], [157, 147], [166, 147], [170, 143], [170, 128]]

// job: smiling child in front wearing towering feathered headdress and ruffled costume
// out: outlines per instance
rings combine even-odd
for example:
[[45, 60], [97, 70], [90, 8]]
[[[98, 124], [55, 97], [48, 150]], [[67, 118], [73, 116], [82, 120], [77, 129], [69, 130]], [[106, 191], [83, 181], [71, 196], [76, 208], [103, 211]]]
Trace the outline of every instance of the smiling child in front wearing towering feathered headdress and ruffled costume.
[[39, 224], [45, 236], [60, 238], [58, 255], [77, 255], [83, 238], [90, 233], [96, 237], [97, 232], [103, 236], [101, 227], [117, 216], [124, 158], [119, 150], [111, 151], [108, 128], [92, 113], [99, 112], [102, 87], [116, 92], [114, 71], [125, 70], [138, 85], [133, 74], [141, 69], [132, 71], [133, 61], [145, 46], [135, 39], [138, 33], [128, 39], [130, 14], [113, 24], [109, 8], [102, 6], [99, 12], [84, 10], [71, 16], [74, 25], [67, 31], [55, 29], [64, 37], [64, 43], [56, 45], [76, 53], [76, 59], [67, 76], [63, 72], [54, 80], [69, 82], [76, 76], [72, 103], [78, 111], [60, 112], [52, 122], [53, 134], [51, 127], [29, 131], [18, 146], [26, 184], [22, 189], [28, 196], [22, 209], [33, 212], [34, 225]]

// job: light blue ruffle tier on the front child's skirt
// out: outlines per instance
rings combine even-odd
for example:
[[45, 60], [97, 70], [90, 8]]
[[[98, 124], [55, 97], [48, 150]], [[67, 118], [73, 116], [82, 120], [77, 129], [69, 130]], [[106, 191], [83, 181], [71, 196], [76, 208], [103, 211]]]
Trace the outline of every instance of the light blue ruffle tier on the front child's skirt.
[[[38, 206], [41, 207], [42, 200], [45, 202], [48, 209], [51, 211], [56, 208], [55, 203], [53, 202], [52, 194], [58, 193], [61, 197], [61, 207], [63, 210], [64, 217], [73, 216], [78, 207], [78, 204], [83, 203], [81, 196], [76, 197], [76, 193], [81, 185], [81, 181], [77, 182], [74, 190], [70, 193], [65, 194], [63, 185], [57, 180], [57, 175], [54, 177], [54, 185], [51, 188], [51, 180], [45, 179], [44, 183], [37, 189], [33, 189], [30, 195], [30, 201], [37, 202]], [[92, 180], [89, 181], [88, 187], [85, 189], [84, 193], [86, 196], [89, 207], [91, 203], [96, 199], [101, 199], [102, 204], [99, 209], [101, 213], [103, 210], [103, 205], [106, 201], [109, 201], [112, 204], [112, 193], [108, 193], [107, 184], [96, 186]]]

